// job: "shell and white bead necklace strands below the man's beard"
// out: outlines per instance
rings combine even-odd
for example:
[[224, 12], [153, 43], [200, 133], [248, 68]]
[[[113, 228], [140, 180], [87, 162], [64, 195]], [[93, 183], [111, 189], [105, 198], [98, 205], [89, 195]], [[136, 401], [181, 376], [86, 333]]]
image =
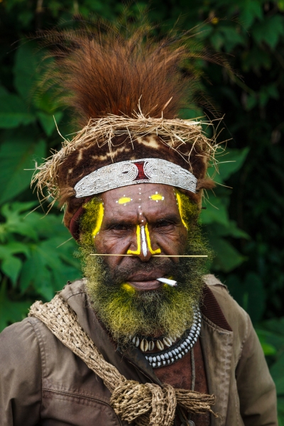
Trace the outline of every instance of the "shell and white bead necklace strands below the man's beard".
[[185, 331], [182, 338], [175, 344], [175, 339], [171, 339], [170, 337], [163, 337], [160, 339], [152, 339], [149, 337], [139, 339], [139, 337], [134, 337], [132, 342], [136, 347], [140, 346], [140, 349], [143, 352], [153, 351], [156, 345], [159, 351], [145, 355], [145, 358], [153, 368], [158, 368], [168, 366], [173, 364], [175, 361], [178, 361], [178, 359], [182, 359], [182, 357], [185, 356], [185, 354], [187, 354], [187, 352], [190, 351], [197, 342], [200, 335], [200, 329], [201, 314], [200, 309], [196, 308], [194, 311], [192, 326], [190, 329]]

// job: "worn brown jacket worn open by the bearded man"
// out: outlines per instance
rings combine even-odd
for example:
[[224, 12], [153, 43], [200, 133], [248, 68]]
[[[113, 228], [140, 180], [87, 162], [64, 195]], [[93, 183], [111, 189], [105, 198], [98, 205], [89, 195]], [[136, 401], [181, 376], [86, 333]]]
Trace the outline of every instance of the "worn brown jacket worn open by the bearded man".
[[[219, 413], [210, 425], [275, 426], [275, 386], [249, 316], [217, 278], [207, 275], [206, 283], [211, 296], [204, 298], [200, 341]], [[122, 356], [111, 343], [87, 307], [84, 280], [66, 285], [61, 295], [104, 359], [127, 379], [159, 383], [138, 349]], [[102, 380], [40, 320], [26, 318], [0, 334], [1, 426], [126, 425], [110, 407], [109, 396]]]

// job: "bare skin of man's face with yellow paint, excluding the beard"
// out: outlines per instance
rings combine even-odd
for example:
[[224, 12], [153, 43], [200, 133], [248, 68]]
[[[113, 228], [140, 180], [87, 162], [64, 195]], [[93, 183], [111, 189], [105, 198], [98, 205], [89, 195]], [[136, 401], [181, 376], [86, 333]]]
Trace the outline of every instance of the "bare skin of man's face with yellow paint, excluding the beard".
[[[158, 290], [163, 284], [156, 278], [168, 278], [167, 268], [162, 263], [155, 271], [145, 271], [139, 264], [155, 255], [178, 256], [185, 252], [187, 229], [174, 188], [144, 183], [104, 192], [101, 199], [104, 216], [99, 233], [94, 235], [97, 252], [131, 254], [133, 257], [107, 256], [105, 262], [111, 271], [129, 268], [126, 283], [136, 290]], [[179, 263], [179, 258], [170, 261]], [[136, 271], [131, 268], [134, 262]]]

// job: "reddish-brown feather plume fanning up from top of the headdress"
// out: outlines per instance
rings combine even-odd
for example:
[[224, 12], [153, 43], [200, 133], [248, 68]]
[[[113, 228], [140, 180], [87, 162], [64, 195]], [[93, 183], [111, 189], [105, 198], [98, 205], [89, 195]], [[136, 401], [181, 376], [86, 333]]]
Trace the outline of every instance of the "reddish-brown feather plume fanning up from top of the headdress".
[[[200, 28], [199, 28], [200, 29]], [[222, 62], [193, 38], [170, 33], [156, 40], [153, 27], [126, 23], [117, 28], [100, 21], [72, 31], [50, 31], [43, 44], [55, 58], [43, 87], [55, 87], [61, 104], [72, 107], [77, 124], [108, 114], [172, 119], [192, 102], [200, 70], [198, 59]]]

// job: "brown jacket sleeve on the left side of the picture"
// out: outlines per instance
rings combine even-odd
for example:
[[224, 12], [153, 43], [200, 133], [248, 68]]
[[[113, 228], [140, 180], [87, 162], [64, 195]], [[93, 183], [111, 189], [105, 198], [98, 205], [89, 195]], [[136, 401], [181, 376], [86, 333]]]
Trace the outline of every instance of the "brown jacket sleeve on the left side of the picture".
[[0, 426], [37, 425], [40, 402], [40, 350], [26, 319], [0, 334]]

